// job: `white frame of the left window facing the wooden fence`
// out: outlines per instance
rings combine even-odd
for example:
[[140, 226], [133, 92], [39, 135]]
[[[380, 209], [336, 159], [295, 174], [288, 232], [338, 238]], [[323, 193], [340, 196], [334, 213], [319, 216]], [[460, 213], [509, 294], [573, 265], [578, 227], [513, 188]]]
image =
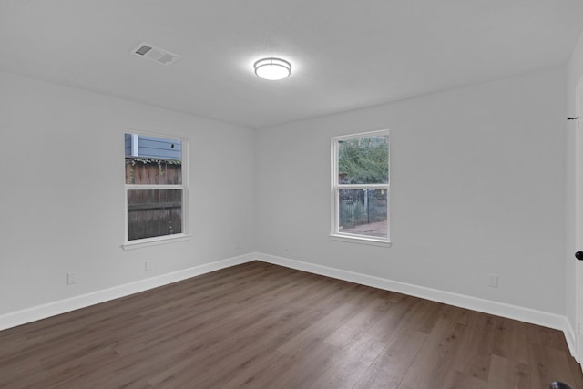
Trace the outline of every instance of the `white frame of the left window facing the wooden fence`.
[[[159, 134], [151, 132], [137, 131], [135, 129], [126, 128], [124, 134], [142, 135], [146, 137], [156, 137], [165, 139], [176, 139], [181, 143], [181, 172], [182, 184], [176, 185], [136, 185], [126, 183], [125, 171], [123, 171], [124, 179], [124, 243], [121, 247], [124, 250], [133, 250], [141, 247], [155, 246], [159, 244], [171, 243], [175, 241], [186, 241], [191, 239], [189, 234], [189, 139], [171, 134]], [[133, 139], [134, 137], [132, 137]], [[124, 143], [120, 141], [122, 147]], [[124, 169], [125, 170], [125, 169]], [[182, 232], [177, 234], [162, 235], [152, 238], [144, 238], [133, 241], [128, 241], [128, 190], [139, 189], [180, 189], [182, 190]]]

